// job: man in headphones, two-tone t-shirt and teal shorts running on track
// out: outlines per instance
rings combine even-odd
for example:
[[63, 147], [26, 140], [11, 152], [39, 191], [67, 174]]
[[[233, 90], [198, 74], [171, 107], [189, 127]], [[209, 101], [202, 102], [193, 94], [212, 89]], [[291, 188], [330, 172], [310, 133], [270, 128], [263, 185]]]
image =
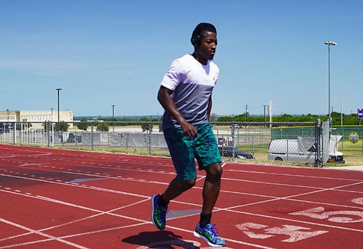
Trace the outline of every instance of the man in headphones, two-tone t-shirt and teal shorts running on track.
[[208, 123], [212, 107], [212, 90], [219, 69], [212, 62], [217, 46], [217, 31], [210, 23], [199, 23], [191, 35], [192, 54], [172, 62], [158, 93], [165, 109], [163, 131], [177, 172], [165, 192], [154, 195], [152, 221], [164, 230], [168, 204], [195, 185], [196, 169], [205, 170], [203, 207], [194, 236], [209, 246], [223, 247], [225, 242], [211, 224], [212, 210], [217, 201], [222, 175], [218, 145]]

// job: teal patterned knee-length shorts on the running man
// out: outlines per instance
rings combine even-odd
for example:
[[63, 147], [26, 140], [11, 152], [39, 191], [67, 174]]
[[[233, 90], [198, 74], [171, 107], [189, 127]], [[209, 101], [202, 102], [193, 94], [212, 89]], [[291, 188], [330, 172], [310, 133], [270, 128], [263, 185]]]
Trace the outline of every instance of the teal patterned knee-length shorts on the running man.
[[196, 137], [184, 135], [181, 128], [164, 130], [164, 137], [177, 171], [176, 178], [179, 181], [196, 178], [195, 159], [199, 170], [213, 163], [222, 162], [211, 124], [194, 126], [198, 132]]

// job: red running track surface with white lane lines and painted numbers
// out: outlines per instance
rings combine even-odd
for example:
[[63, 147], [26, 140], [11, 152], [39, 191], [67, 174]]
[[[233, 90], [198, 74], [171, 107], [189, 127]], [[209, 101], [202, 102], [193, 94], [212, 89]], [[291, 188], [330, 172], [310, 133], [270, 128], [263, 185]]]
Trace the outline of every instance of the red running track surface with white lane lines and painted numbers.
[[[208, 248], [204, 172], [150, 222], [170, 158], [0, 145], [0, 248]], [[224, 163], [212, 217], [228, 248], [362, 248], [363, 172]]]

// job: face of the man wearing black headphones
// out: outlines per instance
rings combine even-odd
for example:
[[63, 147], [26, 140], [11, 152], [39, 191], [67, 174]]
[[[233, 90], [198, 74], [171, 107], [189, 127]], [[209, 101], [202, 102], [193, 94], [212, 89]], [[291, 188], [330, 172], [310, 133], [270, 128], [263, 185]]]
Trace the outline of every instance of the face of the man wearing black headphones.
[[201, 42], [195, 47], [198, 57], [202, 60], [212, 60], [217, 47], [217, 34], [210, 31], [204, 31], [200, 34]]

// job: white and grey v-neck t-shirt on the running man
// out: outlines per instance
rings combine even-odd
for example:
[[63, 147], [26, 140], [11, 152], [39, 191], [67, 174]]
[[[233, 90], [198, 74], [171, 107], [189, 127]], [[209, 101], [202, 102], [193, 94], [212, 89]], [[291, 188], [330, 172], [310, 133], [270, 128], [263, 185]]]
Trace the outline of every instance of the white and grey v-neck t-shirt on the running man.
[[[186, 54], [172, 62], [161, 85], [172, 90], [171, 95], [179, 112], [190, 124], [208, 123], [209, 97], [217, 83], [219, 69], [212, 61], [207, 65]], [[163, 116], [163, 129], [181, 127], [167, 112]]]

